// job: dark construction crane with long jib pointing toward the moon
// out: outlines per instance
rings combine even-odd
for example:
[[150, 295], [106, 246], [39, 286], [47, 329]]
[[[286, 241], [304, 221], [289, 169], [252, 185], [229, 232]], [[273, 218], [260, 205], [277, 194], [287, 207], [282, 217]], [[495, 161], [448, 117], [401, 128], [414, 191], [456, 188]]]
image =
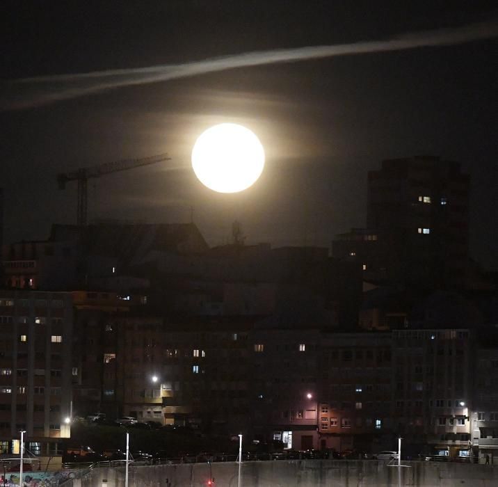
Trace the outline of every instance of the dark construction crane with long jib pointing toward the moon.
[[88, 179], [90, 177], [100, 177], [110, 173], [117, 173], [122, 170], [148, 166], [161, 161], [169, 161], [171, 158], [168, 154], [157, 154], [155, 156], [143, 157], [142, 159], [124, 159], [122, 161], [106, 162], [98, 166], [81, 168], [72, 173], [61, 173], [57, 175], [59, 189], [64, 189], [65, 184], [69, 181], [78, 182], [78, 225], [86, 225], [86, 216], [88, 211]]

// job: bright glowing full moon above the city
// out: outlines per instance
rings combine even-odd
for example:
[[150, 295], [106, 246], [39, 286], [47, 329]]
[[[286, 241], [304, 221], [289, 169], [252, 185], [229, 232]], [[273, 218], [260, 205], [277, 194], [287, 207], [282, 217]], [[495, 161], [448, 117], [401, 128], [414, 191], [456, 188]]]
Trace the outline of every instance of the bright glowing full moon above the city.
[[195, 141], [192, 168], [209, 189], [237, 193], [254, 184], [263, 172], [263, 145], [242, 125], [214, 125]]

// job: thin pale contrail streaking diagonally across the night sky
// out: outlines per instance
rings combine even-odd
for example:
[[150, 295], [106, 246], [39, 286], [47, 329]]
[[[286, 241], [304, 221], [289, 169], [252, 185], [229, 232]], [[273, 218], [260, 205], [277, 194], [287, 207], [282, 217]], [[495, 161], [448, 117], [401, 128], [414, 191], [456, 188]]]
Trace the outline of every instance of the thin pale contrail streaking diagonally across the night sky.
[[175, 65], [157, 65], [123, 70], [17, 79], [6, 82], [7, 89], [3, 90], [0, 110], [29, 109], [122, 86], [143, 85], [170, 79], [193, 77], [236, 67], [291, 63], [332, 56], [401, 51], [417, 47], [456, 45], [497, 36], [498, 22], [494, 20], [452, 29], [408, 33], [389, 40], [253, 51]]

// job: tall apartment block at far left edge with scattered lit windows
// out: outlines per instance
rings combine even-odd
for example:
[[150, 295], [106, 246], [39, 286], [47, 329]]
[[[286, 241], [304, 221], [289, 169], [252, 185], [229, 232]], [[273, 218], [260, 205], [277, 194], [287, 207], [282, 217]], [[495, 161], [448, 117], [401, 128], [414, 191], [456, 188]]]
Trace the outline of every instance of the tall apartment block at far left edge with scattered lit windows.
[[70, 437], [72, 297], [0, 291], [0, 452], [61, 454]]

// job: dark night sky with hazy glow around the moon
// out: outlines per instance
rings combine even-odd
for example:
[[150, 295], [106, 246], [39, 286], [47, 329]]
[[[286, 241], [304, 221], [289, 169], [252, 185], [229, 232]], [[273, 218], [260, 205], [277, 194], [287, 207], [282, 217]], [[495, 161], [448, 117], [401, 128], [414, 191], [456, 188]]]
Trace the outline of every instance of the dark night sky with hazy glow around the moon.
[[[211, 245], [227, 241], [237, 219], [249, 244], [330, 246], [335, 234], [365, 225], [368, 170], [382, 159], [433, 154], [471, 174], [471, 253], [498, 269], [496, 37], [241, 67], [6, 109], [38, 89], [13, 81], [20, 78], [389, 40], [497, 19], [478, 1], [406, 3], [2, 2], [4, 240], [45, 239], [51, 223], [75, 223], [76, 184], [59, 191], [57, 173], [168, 152], [167, 163], [93, 179], [90, 220], [185, 223], [193, 207]], [[232, 195], [204, 188], [190, 168], [195, 138], [228, 121], [255, 131], [266, 150], [259, 181]]]

